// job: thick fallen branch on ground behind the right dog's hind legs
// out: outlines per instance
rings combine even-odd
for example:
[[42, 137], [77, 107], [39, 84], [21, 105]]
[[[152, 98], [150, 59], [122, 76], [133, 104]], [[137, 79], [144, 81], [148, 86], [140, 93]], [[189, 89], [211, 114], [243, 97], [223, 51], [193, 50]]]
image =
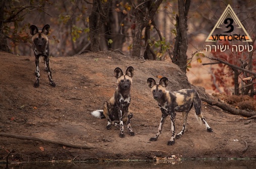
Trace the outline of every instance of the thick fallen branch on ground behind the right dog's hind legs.
[[210, 100], [210, 99], [203, 98], [203, 97], [201, 97], [201, 100], [207, 102], [210, 105], [216, 105], [216, 106], [220, 107], [221, 109], [230, 112], [233, 115], [241, 115], [241, 116], [244, 116], [244, 117], [256, 116], [255, 111], [235, 109], [235, 108], [231, 107], [230, 105], [228, 105], [226, 103], [222, 103], [220, 101], [215, 101], [215, 100]]

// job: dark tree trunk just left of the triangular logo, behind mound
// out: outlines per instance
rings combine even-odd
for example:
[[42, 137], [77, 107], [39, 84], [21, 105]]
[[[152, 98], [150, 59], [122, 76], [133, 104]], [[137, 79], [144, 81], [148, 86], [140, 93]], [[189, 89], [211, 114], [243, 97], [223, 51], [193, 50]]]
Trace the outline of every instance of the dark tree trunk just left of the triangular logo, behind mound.
[[190, 0], [178, 0], [179, 16], [176, 16], [177, 36], [174, 44], [172, 62], [179, 66], [182, 72], [187, 69], [187, 14]]

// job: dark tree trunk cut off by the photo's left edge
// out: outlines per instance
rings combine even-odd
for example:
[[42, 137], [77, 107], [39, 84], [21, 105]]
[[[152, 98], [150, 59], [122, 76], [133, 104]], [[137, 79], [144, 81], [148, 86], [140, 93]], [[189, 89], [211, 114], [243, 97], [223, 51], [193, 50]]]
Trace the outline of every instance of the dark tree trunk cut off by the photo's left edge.
[[6, 0], [0, 0], [0, 50], [9, 51], [7, 46], [7, 38], [4, 34], [4, 8], [5, 8]]

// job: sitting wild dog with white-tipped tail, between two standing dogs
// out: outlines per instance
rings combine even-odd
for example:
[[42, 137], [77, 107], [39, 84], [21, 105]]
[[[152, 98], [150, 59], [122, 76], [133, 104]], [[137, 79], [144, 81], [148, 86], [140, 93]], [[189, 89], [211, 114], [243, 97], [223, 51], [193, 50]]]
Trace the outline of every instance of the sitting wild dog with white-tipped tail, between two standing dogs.
[[97, 118], [107, 118], [107, 129], [111, 129], [111, 125], [118, 126], [120, 129], [119, 136], [124, 137], [124, 123], [126, 122], [128, 133], [134, 136], [132, 131], [130, 119], [132, 114], [129, 112], [129, 105], [131, 101], [130, 89], [132, 84], [132, 77], [134, 70], [132, 67], [127, 68], [125, 75], [120, 68], [116, 68], [114, 75], [117, 78], [118, 87], [110, 102], [105, 102], [103, 110], [95, 110], [91, 113], [92, 116]]

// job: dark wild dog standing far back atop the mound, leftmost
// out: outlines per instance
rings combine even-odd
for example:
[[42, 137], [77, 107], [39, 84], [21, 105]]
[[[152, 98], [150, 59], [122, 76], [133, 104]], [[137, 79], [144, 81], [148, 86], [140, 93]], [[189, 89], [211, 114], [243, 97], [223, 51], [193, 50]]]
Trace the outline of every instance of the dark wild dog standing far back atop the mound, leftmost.
[[46, 35], [49, 33], [50, 26], [44, 25], [41, 31], [38, 31], [38, 28], [35, 25], [30, 26], [30, 34], [32, 37], [32, 47], [35, 54], [35, 83], [34, 87], [39, 86], [40, 80], [40, 71], [39, 71], [39, 57], [43, 57], [45, 71], [48, 73], [48, 79], [50, 81], [50, 85], [55, 87], [56, 84], [53, 81], [52, 73], [50, 72], [49, 66], [49, 40]]

